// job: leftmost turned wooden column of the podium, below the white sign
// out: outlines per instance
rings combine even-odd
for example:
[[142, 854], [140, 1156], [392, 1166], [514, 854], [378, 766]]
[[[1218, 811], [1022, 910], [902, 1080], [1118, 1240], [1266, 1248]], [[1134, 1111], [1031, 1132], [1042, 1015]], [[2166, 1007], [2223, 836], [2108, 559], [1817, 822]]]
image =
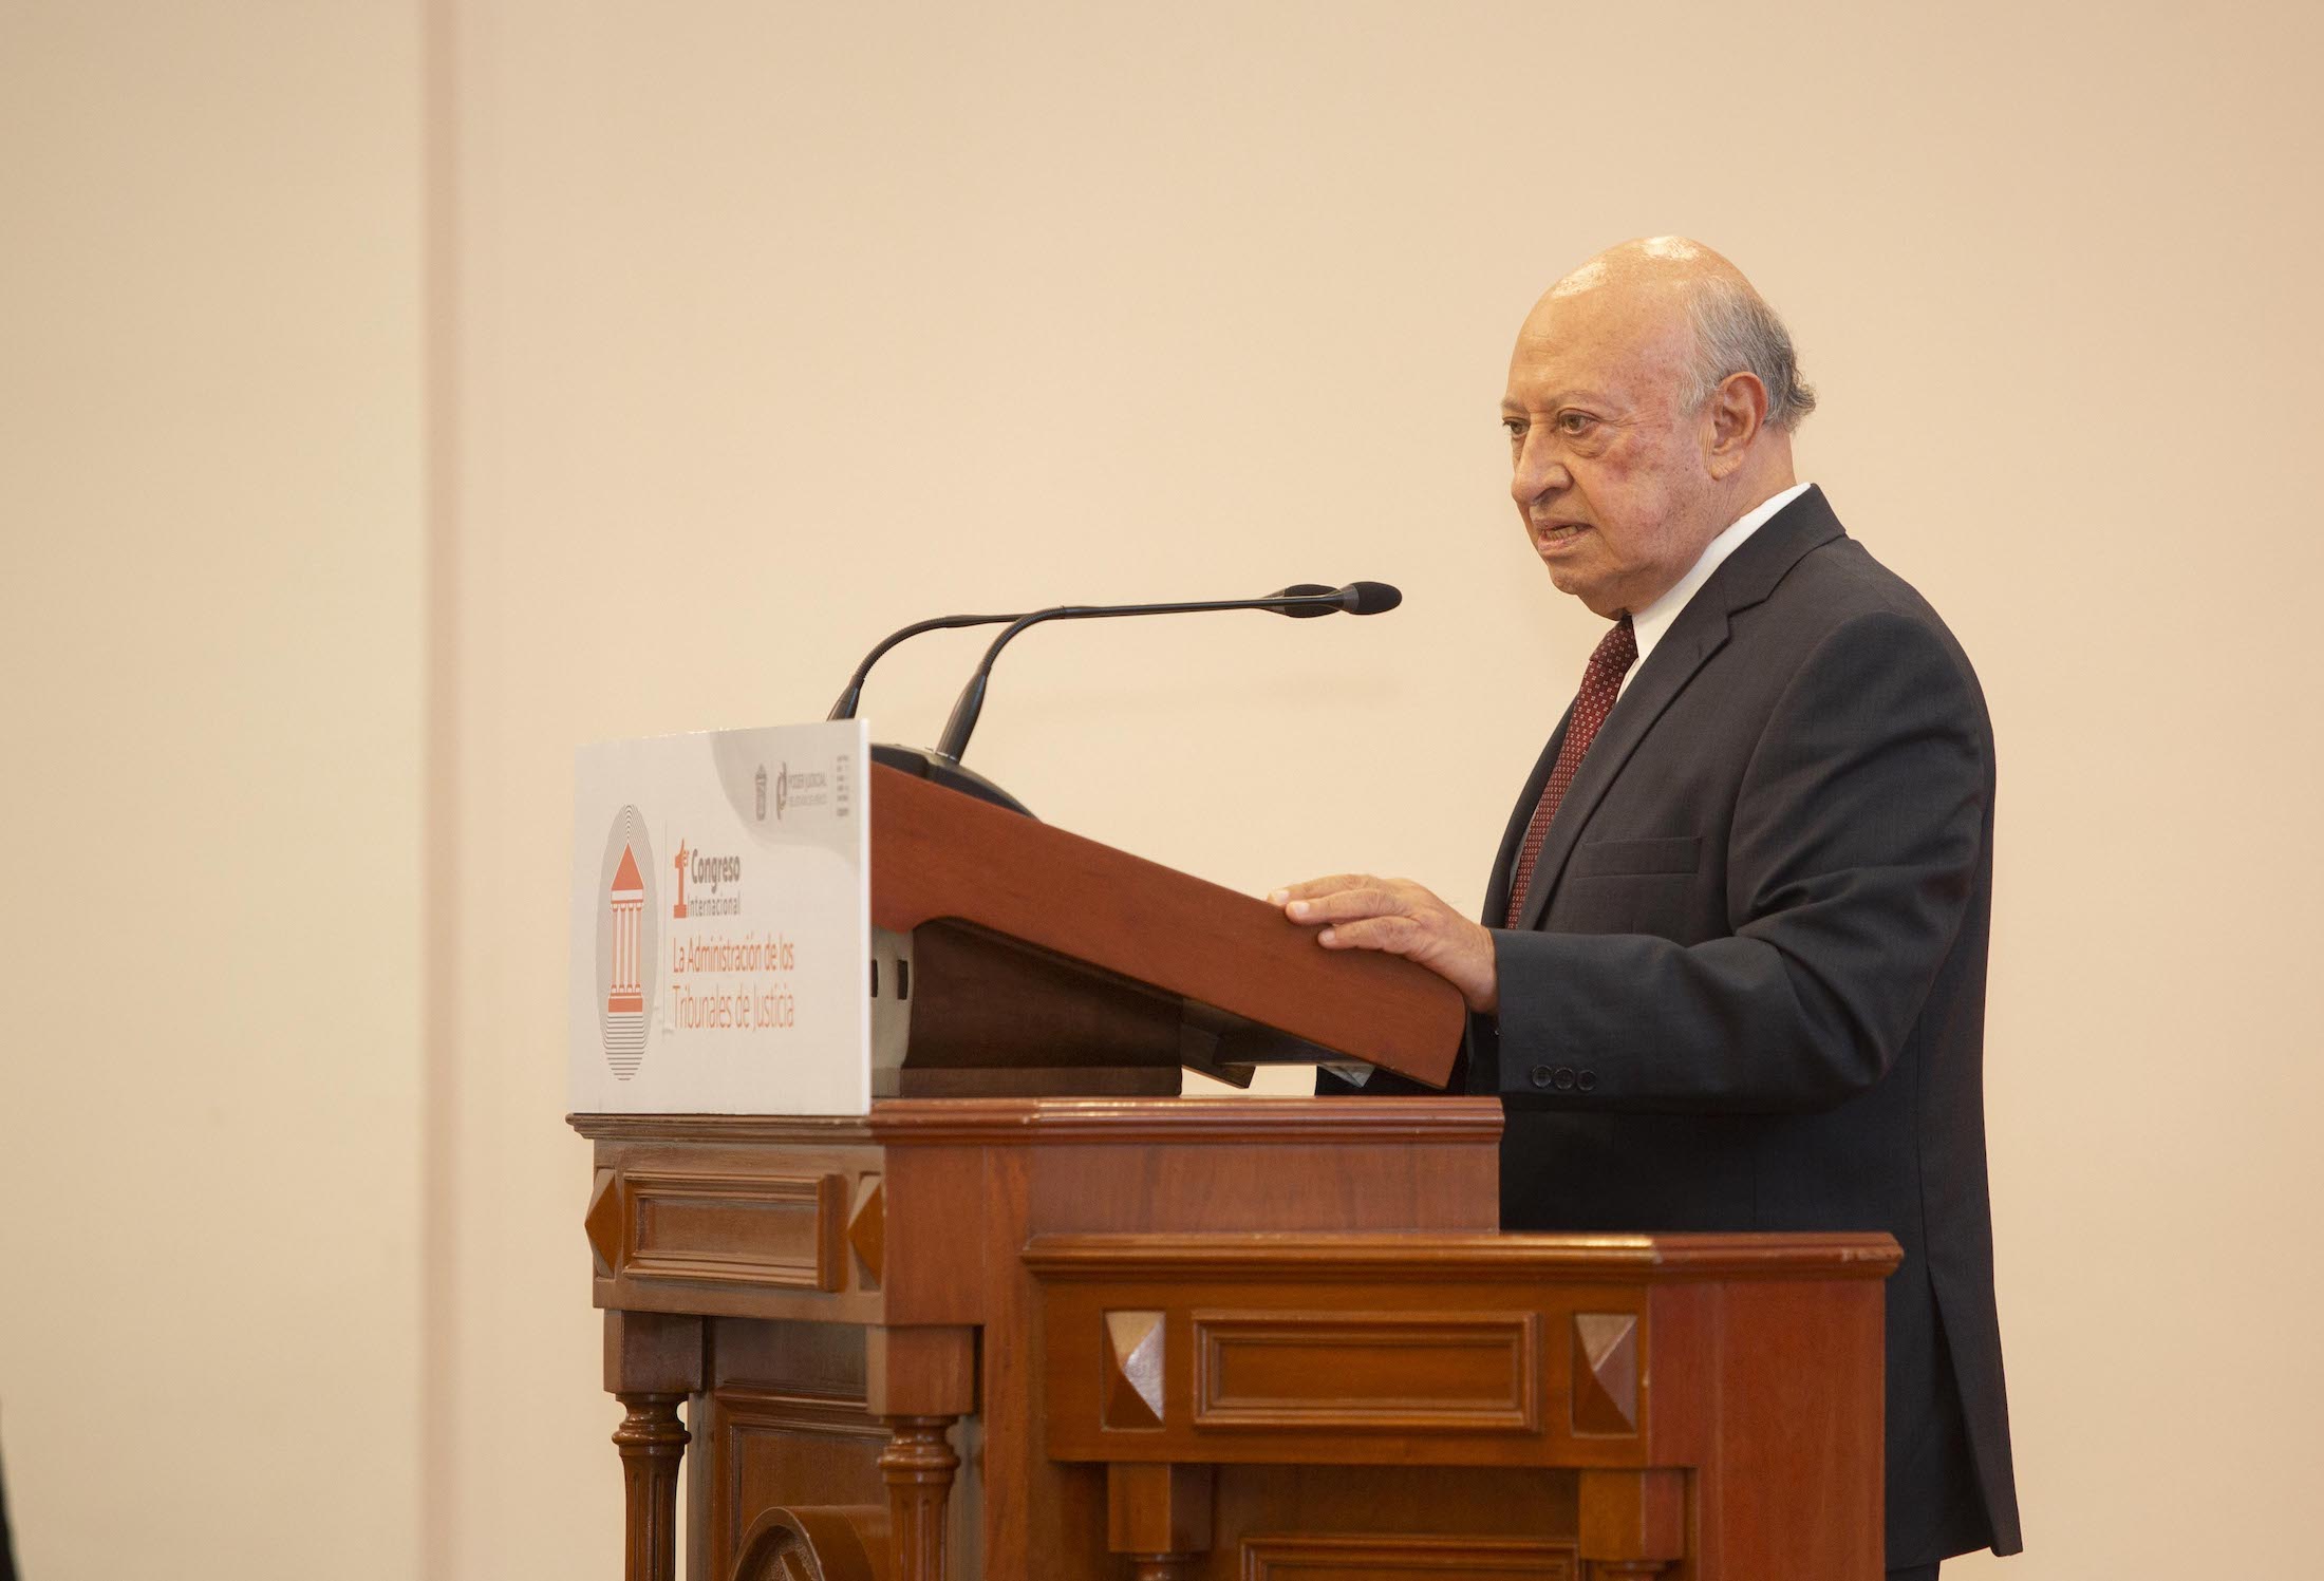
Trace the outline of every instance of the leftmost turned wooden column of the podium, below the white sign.
[[679, 1402], [702, 1388], [702, 1318], [604, 1314], [604, 1388], [625, 1414], [614, 1430], [623, 1486], [623, 1579], [676, 1581]]

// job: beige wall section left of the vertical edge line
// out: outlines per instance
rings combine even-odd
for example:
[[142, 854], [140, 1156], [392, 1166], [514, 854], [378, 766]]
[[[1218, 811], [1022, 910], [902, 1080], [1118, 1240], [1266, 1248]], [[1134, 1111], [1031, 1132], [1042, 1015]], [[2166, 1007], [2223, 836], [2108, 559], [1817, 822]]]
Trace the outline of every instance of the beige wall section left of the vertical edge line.
[[35, 1581], [416, 1574], [416, 81], [404, 5], [0, 9]]

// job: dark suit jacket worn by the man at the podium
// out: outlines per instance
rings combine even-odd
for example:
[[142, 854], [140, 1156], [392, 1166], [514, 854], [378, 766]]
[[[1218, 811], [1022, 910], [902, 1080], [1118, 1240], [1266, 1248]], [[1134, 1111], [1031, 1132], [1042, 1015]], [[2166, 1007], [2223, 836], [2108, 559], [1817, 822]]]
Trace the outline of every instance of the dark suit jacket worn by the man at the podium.
[[1810, 488], [1631, 674], [1501, 930], [1562, 737], [1485, 897], [1501, 1009], [1466, 1081], [1508, 1102], [1504, 1228], [1887, 1230], [1887, 1562], [2015, 1553], [1968, 658]]

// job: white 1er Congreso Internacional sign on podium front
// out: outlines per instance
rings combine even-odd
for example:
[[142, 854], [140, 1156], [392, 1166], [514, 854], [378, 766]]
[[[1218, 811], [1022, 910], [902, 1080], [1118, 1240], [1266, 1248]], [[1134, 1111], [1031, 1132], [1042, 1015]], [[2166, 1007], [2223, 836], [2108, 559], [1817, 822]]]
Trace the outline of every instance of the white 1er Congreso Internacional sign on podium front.
[[576, 1114], [869, 1114], [862, 721], [583, 746]]

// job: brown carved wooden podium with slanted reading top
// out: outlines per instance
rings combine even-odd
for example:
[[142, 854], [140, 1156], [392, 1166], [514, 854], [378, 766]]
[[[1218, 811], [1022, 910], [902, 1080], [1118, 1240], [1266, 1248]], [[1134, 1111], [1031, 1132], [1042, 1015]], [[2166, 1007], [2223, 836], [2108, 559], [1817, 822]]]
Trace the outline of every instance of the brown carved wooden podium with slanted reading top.
[[892, 770], [871, 816], [906, 1095], [572, 1118], [630, 1581], [688, 1444], [690, 1581], [1880, 1574], [1889, 1237], [1497, 1235], [1497, 1100], [1171, 1095], [1443, 1081], [1439, 979]]

